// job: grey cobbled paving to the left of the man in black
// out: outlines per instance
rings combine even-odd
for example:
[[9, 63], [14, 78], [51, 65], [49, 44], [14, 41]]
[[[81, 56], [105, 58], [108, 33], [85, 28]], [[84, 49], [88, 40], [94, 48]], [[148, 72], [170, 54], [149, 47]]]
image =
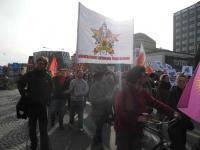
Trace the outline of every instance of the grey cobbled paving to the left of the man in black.
[[17, 90], [0, 91], [0, 149], [23, 150], [26, 146], [27, 121], [16, 118]]

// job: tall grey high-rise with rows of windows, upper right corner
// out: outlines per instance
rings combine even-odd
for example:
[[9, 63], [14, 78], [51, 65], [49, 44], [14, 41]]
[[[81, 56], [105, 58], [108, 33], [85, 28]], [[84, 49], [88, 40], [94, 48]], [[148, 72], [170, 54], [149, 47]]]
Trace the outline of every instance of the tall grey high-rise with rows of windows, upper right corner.
[[200, 2], [174, 13], [173, 50], [195, 54], [200, 43]]

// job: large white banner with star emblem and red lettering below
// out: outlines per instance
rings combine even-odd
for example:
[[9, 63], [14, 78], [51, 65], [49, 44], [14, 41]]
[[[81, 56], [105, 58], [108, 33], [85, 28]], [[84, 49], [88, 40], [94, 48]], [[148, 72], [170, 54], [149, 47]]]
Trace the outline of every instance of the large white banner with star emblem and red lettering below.
[[133, 64], [133, 20], [116, 22], [79, 3], [78, 63]]

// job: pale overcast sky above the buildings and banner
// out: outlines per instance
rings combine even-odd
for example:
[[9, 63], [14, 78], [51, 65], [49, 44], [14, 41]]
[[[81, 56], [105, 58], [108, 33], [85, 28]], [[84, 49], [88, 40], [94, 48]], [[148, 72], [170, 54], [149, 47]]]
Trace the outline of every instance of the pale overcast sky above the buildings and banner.
[[0, 0], [0, 65], [27, 62], [41, 50], [64, 48], [72, 55], [78, 2], [115, 20], [134, 19], [135, 33], [172, 50], [173, 13], [198, 0]]

